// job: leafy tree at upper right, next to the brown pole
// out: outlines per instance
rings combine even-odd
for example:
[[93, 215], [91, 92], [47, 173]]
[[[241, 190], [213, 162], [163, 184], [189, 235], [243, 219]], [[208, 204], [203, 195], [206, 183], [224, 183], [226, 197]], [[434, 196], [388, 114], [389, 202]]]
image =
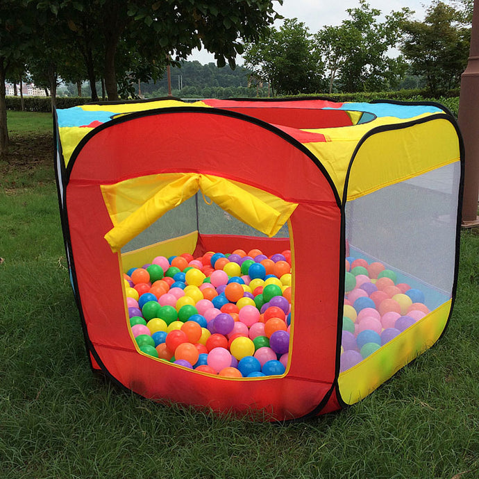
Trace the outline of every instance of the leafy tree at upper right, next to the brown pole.
[[401, 51], [410, 60], [412, 73], [426, 77], [433, 95], [460, 85], [471, 39], [466, 20], [464, 12], [437, 1], [426, 10], [424, 22], [403, 22]]

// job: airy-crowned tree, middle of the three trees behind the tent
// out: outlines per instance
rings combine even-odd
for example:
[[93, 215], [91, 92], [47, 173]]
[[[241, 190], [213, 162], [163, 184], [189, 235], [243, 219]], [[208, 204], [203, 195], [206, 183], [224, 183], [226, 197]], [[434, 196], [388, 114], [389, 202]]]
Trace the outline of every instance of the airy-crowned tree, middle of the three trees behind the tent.
[[407, 65], [399, 56], [389, 57], [396, 47], [401, 25], [410, 10], [391, 12], [378, 22], [380, 10], [360, 0], [357, 8], [348, 8], [349, 18], [340, 26], [326, 26], [315, 36], [329, 72], [330, 92], [337, 80], [343, 92], [378, 91], [394, 87]]

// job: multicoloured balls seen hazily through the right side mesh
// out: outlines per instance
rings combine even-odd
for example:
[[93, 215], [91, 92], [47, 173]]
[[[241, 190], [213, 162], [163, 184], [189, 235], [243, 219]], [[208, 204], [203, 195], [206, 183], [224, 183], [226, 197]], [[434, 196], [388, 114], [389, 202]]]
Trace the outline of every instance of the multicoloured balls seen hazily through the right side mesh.
[[346, 258], [340, 371], [377, 351], [428, 314], [420, 289], [398, 283], [380, 262]]

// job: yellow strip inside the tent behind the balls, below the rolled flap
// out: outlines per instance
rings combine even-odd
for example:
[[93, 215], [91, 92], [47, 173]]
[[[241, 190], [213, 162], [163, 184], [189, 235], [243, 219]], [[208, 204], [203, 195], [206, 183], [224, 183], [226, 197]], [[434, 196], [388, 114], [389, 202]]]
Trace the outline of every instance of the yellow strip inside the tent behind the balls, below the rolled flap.
[[135, 251], [128, 251], [128, 253], [121, 254], [121, 271], [128, 271], [133, 267], [138, 267], [141, 264], [151, 262], [151, 258], [156, 256], [165, 256], [169, 258], [182, 253], [193, 254], [198, 242], [198, 231], [193, 231], [187, 235], [179, 236], [171, 240], [165, 240], [159, 243], [150, 244], [144, 248], [135, 249]]

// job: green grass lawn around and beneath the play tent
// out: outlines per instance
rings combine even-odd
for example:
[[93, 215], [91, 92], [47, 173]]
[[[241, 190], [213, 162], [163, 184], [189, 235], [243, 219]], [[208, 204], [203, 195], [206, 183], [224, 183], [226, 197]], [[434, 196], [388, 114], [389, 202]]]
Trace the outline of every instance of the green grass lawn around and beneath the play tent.
[[51, 133], [36, 147], [31, 135], [0, 162], [1, 478], [479, 477], [477, 230], [462, 232], [446, 333], [376, 392], [300, 423], [220, 418], [147, 401], [90, 371]]

